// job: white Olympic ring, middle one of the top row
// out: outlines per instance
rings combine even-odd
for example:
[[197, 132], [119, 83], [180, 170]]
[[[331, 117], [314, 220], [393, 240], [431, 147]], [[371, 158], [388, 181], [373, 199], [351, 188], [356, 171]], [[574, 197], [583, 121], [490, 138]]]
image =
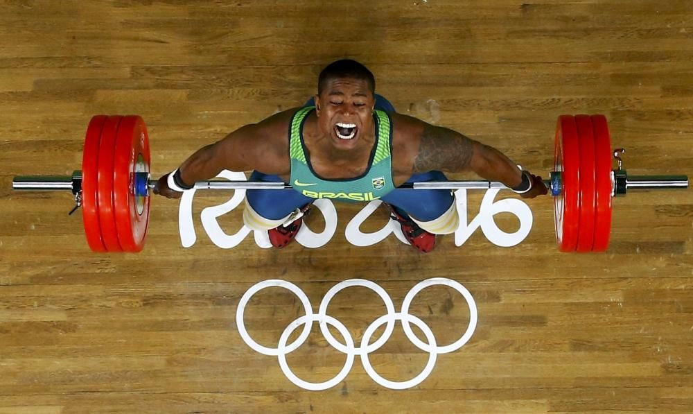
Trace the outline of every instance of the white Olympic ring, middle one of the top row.
[[[371, 291], [377, 293], [378, 296], [380, 296], [380, 298], [383, 300], [383, 302], [385, 302], [385, 309], [387, 309], [387, 313], [385, 314], [385, 316], [394, 315], [395, 311], [394, 303], [392, 302], [392, 297], [389, 297], [385, 289], [383, 289], [380, 285], [376, 284], [375, 282], [371, 282], [370, 280], [349, 279], [345, 280], [344, 282], [335, 284], [335, 286], [333, 286], [329, 291], [327, 291], [327, 293], [325, 293], [325, 296], [322, 298], [322, 302], [320, 302], [320, 309], [317, 311], [318, 316], [322, 316], [324, 318], [327, 315], [327, 307], [330, 304], [332, 298], [335, 297], [335, 295], [337, 295], [337, 293], [339, 293], [343, 289], [353, 286], [369, 288], [371, 289]], [[354, 351], [349, 350], [347, 347], [344, 346], [344, 344], [340, 343], [340, 341], [338, 341], [334, 336], [332, 336], [332, 333], [329, 329], [327, 329], [327, 325], [324, 320], [321, 319], [319, 320], [319, 322], [320, 331], [322, 332], [322, 335], [327, 340], [327, 343], [329, 343], [332, 347], [336, 348], [339, 352], [342, 352], [342, 354], [356, 352], [356, 355], [361, 355], [363, 354], [363, 352], [374, 352], [375, 350], [378, 350], [380, 347], [385, 345], [390, 336], [392, 336], [392, 331], [394, 331], [394, 322], [396, 322], [396, 319], [392, 318], [387, 321], [387, 326], [385, 327], [383, 335], [381, 335], [380, 338], [378, 338], [378, 340], [376, 340], [376, 342], [374, 342], [373, 344], [366, 344], [367, 346], [365, 351], [363, 350], [363, 346], [355, 348]]]

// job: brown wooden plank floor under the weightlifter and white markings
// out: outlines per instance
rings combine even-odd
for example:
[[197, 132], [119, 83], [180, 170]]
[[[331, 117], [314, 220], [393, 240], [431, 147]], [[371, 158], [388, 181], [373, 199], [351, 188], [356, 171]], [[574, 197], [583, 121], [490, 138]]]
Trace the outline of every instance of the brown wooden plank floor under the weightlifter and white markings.
[[[367, 64], [399, 112], [532, 171], [552, 169], [564, 113], [606, 114], [629, 173], [693, 170], [690, 0], [2, 0], [0, 413], [693, 412], [691, 190], [615, 200], [611, 248], [593, 255], [558, 252], [548, 197], [529, 202], [532, 232], [512, 248], [480, 230], [461, 247], [447, 236], [430, 255], [394, 236], [360, 248], [344, 227], [362, 206], [336, 205], [340, 222], [322, 248], [261, 249], [248, 236], [225, 250], [200, 223], [204, 207], [228, 199], [219, 195], [195, 198], [191, 248], [179, 240], [177, 202], [155, 198], [143, 252], [97, 255], [79, 214], [67, 216], [69, 194], [11, 190], [13, 175], [80, 169], [87, 122], [100, 113], [141, 114], [161, 175], [302, 103], [319, 70], [344, 57]], [[470, 219], [480, 200], [469, 196]], [[220, 223], [232, 234], [240, 220], [236, 209]], [[308, 224], [319, 230], [321, 220]], [[385, 221], [378, 210], [365, 228]], [[498, 222], [516, 225], [507, 213]], [[238, 303], [257, 282], [292, 282], [317, 311], [355, 277], [382, 286], [397, 309], [417, 282], [454, 279], [475, 298], [475, 334], [409, 390], [378, 385], [357, 357], [324, 391], [295, 386], [277, 357], [238, 334]], [[303, 312], [268, 288], [245, 323], [272, 347]], [[362, 287], [329, 307], [357, 343], [384, 313]], [[411, 313], [440, 345], [469, 318], [462, 295], [441, 286], [417, 295]], [[428, 353], [398, 326], [369, 358], [404, 381]], [[316, 324], [287, 359], [317, 382], [345, 356]]]

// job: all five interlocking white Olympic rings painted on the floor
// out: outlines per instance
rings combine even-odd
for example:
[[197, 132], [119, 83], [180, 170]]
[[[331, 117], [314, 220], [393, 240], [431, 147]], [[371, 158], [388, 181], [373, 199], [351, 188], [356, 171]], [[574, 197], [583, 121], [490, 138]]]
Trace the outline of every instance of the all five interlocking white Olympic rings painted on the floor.
[[[466, 331], [458, 340], [455, 340], [455, 342], [451, 343], [450, 345], [439, 346], [432, 330], [428, 325], [426, 325], [426, 322], [423, 322], [423, 320], [409, 313], [409, 307], [414, 299], [414, 296], [416, 296], [416, 294], [422, 291], [424, 288], [435, 285], [448, 286], [461, 293], [469, 308], [469, 325]], [[387, 309], [387, 313], [385, 315], [380, 316], [374, 320], [374, 322], [371, 322], [371, 325], [367, 327], [363, 337], [361, 338], [360, 346], [356, 346], [354, 344], [354, 340], [351, 337], [349, 330], [347, 330], [347, 327], [345, 327], [342, 322], [327, 314], [327, 307], [332, 298], [344, 288], [351, 286], [362, 286], [371, 289], [371, 291], [374, 291], [378, 296], [380, 296], [385, 303], [385, 308]], [[285, 288], [297, 295], [299, 300], [301, 300], [301, 304], [303, 304], [304, 311], [306, 312], [304, 316], [300, 316], [296, 320], [290, 322], [290, 324], [282, 332], [279, 338], [279, 344], [274, 348], [265, 347], [256, 343], [255, 340], [253, 340], [253, 338], [251, 338], [248, 334], [247, 330], [245, 329], [245, 322], [243, 322], [245, 307], [251, 297], [258, 293], [258, 291], [269, 287]], [[398, 320], [401, 321], [404, 333], [412, 344], [414, 344], [420, 350], [428, 352], [429, 354], [428, 363], [426, 363], [426, 366], [423, 368], [421, 373], [408, 381], [389, 381], [388, 379], [381, 377], [380, 374], [374, 370], [368, 357], [371, 352], [375, 352], [387, 342], [392, 335], [395, 322]], [[308, 335], [310, 335], [310, 329], [313, 327], [313, 322], [318, 322], [322, 335], [332, 347], [334, 347], [337, 351], [342, 352], [342, 354], [347, 355], [347, 361], [344, 363], [344, 368], [342, 368], [342, 370], [332, 379], [320, 383], [308, 382], [300, 379], [292, 372], [291, 368], [289, 368], [288, 363], [286, 362], [286, 355], [297, 350], [298, 347], [305, 343]], [[411, 324], [414, 324], [416, 327], [421, 329], [424, 336], [426, 336], [427, 343], [424, 343], [416, 337], [414, 331], [412, 331]], [[356, 356], [360, 356], [363, 368], [367, 374], [369, 374], [371, 379], [383, 387], [392, 388], [394, 390], [404, 390], [419, 385], [419, 383], [428, 377], [435, 367], [439, 354], [454, 352], [459, 350], [459, 348], [467, 343], [467, 341], [474, 334], [474, 329], [477, 325], [477, 309], [471, 293], [469, 293], [469, 291], [467, 291], [462, 284], [445, 277], [433, 277], [416, 284], [416, 286], [414, 286], [405, 296], [402, 303], [402, 309], [399, 312], [395, 311], [392, 299], [389, 297], [387, 292], [385, 292], [385, 289], [380, 287], [378, 284], [365, 279], [349, 279], [333, 286], [333, 288], [326, 293], [325, 297], [323, 297], [322, 302], [320, 302], [318, 312], [313, 313], [313, 307], [310, 304], [310, 300], [308, 300], [308, 296], [306, 296], [306, 293], [301, 291], [298, 286], [284, 280], [270, 279], [255, 284], [249, 288], [247, 292], [245, 292], [243, 297], [240, 298], [238, 309], [236, 311], [236, 325], [238, 325], [238, 333], [240, 334], [240, 337], [243, 338], [249, 347], [264, 355], [277, 356], [279, 359], [279, 367], [289, 381], [306, 390], [326, 390], [340, 383], [342, 380], [344, 380], [344, 378], [347, 377], [349, 371], [351, 371], [351, 367], [353, 366], [353, 361], [356, 359]], [[340, 335], [344, 339], [344, 343], [341, 343], [331, 334], [327, 325], [331, 325], [337, 329], [337, 331], [339, 331]], [[383, 335], [375, 340], [374, 343], [369, 345], [371, 336], [373, 336], [376, 329], [378, 329], [381, 325], [385, 325]], [[291, 334], [301, 326], [303, 326], [303, 330], [301, 331], [301, 334], [299, 334], [298, 338], [296, 338], [296, 340], [294, 340], [292, 343], [287, 343]]]

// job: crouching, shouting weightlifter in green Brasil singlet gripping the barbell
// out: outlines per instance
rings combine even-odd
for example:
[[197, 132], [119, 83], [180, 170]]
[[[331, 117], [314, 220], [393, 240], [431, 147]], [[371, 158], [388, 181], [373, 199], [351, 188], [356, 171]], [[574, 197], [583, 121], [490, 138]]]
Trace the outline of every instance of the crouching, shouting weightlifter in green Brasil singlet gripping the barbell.
[[292, 241], [317, 198], [382, 200], [411, 245], [435, 248], [438, 234], [457, 230], [450, 190], [398, 189], [405, 183], [445, 181], [444, 172], [473, 171], [534, 198], [541, 180], [500, 153], [464, 135], [398, 114], [375, 93], [371, 71], [337, 60], [319, 75], [317, 95], [297, 107], [243, 126], [200, 148], [157, 182], [155, 193], [179, 198], [220, 171], [250, 171], [250, 181], [289, 183], [295, 191], [248, 190], [243, 221], [267, 231], [275, 248]]

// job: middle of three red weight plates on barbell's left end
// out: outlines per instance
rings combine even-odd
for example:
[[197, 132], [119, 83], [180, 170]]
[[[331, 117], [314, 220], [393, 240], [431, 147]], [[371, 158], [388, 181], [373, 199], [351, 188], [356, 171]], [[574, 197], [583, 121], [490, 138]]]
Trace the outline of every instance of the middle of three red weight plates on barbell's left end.
[[113, 206], [113, 162], [116, 148], [116, 132], [123, 117], [108, 117], [101, 131], [98, 148], [98, 222], [101, 225], [103, 244], [108, 252], [122, 252], [116, 230]]

